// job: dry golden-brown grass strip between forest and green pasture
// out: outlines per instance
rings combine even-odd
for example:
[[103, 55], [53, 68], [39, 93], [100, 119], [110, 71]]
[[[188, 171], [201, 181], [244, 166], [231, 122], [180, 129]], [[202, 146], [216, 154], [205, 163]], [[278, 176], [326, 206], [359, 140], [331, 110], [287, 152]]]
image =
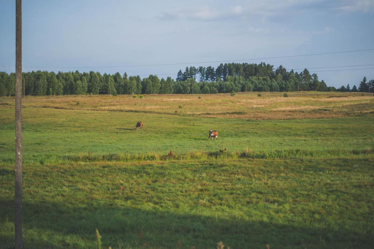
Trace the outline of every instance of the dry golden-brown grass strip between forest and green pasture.
[[[24, 107], [74, 110], [125, 111], [221, 117], [252, 120], [321, 119], [364, 116], [374, 113], [373, 94], [346, 92], [257, 92], [206, 95], [70, 95], [26, 96]], [[200, 99], [199, 99], [200, 96]], [[14, 98], [3, 98], [0, 105], [14, 106]]]

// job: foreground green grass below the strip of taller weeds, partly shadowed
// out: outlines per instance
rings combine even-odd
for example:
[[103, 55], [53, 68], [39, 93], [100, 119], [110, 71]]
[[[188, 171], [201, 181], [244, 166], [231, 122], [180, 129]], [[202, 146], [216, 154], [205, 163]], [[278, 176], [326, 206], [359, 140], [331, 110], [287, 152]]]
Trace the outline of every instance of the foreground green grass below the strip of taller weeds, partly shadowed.
[[[372, 248], [373, 158], [25, 165], [25, 248]], [[13, 243], [13, 166], [0, 241]], [[141, 235], [142, 234], [142, 235]]]

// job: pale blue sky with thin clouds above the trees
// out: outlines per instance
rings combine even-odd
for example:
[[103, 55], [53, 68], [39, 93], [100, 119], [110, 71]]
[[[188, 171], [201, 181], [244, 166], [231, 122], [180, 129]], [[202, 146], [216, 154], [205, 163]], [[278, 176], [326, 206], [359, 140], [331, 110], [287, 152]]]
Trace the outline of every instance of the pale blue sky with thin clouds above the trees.
[[[187, 66], [220, 64], [191, 62], [374, 49], [373, 14], [374, 0], [23, 0], [22, 65], [175, 78]], [[0, 71], [14, 72], [14, 0], [0, 0], [0, 34]], [[287, 69], [369, 65], [310, 72], [374, 68], [374, 50], [237, 62], [261, 61]], [[186, 64], [119, 67], [174, 63]], [[374, 69], [316, 73], [335, 87], [374, 79]]]

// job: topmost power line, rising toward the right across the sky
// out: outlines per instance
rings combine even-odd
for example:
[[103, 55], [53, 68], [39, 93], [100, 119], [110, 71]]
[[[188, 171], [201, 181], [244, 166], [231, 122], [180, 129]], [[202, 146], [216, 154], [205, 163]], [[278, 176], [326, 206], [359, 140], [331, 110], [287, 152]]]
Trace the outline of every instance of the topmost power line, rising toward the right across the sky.
[[[167, 65], [184, 65], [184, 64], [203, 64], [203, 63], [216, 63], [216, 62], [232, 62], [232, 61], [252, 61], [252, 60], [262, 60], [262, 59], [277, 59], [277, 58], [290, 58], [290, 57], [300, 57], [300, 56], [312, 56], [312, 55], [328, 55], [335, 53], [351, 53], [351, 52], [361, 52], [370, 51], [374, 49], [360, 49], [360, 50], [350, 50], [350, 51], [339, 51], [339, 52], [327, 52], [327, 53], [311, 53], [304, 55], [286, 55], [286, 56], [273, 56], [264, 58], [251, 58], [251, 59], [236, 59], [227, 61], [202, 61], [202, 62], [184, 62], [184, 63], [168, 63], [168, 64], [145, 64], [145, 65], [125, 65], [125, 66], [80, 66], [80, 67], [23, 67], [23, 68], [114, 68], [114, 67], [150, 67], [150, 66], [167, 66]], [[0, 66], [14, 68], [13, 66]]]

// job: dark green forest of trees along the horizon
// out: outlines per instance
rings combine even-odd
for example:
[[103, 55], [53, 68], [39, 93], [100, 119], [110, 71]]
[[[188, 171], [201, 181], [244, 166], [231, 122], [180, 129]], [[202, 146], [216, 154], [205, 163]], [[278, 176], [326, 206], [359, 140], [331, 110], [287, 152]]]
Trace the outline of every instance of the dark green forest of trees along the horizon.
[[[354, 85], [335, 87], [319, 81], [316, 73], [304, 69], [300, 73], [288, 71], [282, 65], [274, 66], [261, 62], [225, 63], [214, 67], [186, 67], [178, 71], [176, 79], [160, 79], [150, 75], [140, 76], [101, 74], [90, 71], [61, 72], [32, 71], [22, 73], [24, 95], [84, 95], [84, 94], [190, 94], [230, 92], [292, 92], [292, 91], [341, 91], [373, 92], [374, 81], [366, 77]], [[0, 72], [0, 96], [15, 95], [15, 74]]]

